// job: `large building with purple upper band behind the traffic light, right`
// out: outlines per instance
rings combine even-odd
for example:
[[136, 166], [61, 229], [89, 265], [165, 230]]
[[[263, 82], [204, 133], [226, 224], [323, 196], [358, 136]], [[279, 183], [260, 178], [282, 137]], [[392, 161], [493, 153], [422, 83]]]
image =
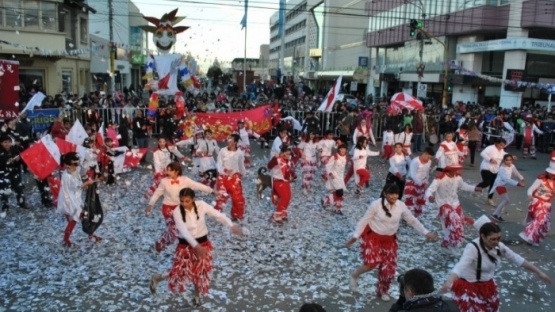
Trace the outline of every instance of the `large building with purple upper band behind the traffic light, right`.
[[[446, 71], [447, 103], [519, 107], [547, 98], [545, 89], [522, 82], [555, 82], [555, 1], [373, 0], [368, 14], [376, 95], [403, 89], [441, 103]], [[411, 37], [411, 19], [421, 20], [432, 38]]]

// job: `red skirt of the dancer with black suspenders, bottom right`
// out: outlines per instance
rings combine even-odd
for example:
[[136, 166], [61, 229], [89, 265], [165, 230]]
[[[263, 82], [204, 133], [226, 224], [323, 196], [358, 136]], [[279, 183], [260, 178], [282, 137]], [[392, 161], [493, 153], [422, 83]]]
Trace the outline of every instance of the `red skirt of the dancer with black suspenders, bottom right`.
[[459, 278], [451, 289], [459, 310], [465, 312], [499, 311], [499, 293], [493, 279], [471, 283]]

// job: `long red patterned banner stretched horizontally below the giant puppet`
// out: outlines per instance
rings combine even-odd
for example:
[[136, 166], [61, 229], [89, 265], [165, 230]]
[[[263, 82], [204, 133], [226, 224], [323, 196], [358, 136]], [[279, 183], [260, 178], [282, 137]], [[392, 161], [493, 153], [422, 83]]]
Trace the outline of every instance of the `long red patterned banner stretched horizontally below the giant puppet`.
[[[277, 111], [275, 113], [278, 113]], [[214, 139], [224, 141], [227, 137], [236, 132], [237, 121], [243, 120], [245, 128], [252, 130], [260, 135], [272, 129], [272, 116], [274, 107], [267, 104], [242, 112], [230, 113], [197, 113], [190, 115], [181, 125], [183, 138], [187, 139], [194, 135], [197, 126], [210, 129], [214, 134]]]

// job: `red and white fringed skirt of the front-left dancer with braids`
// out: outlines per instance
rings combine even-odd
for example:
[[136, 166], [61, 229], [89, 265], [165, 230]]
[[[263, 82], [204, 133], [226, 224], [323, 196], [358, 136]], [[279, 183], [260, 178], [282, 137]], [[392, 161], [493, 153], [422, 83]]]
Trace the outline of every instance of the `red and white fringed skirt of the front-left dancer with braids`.
[[172, 293], [184, 292], [187, 283], [193, 283], [203, 294], [208, 293], [210, 272], [213, 269], [213, 247], [210, 241], [200, 245], [207, 251], [205, 258], [199, 258], [190, 245], [177, 245], [168, 282], [168, 287]]

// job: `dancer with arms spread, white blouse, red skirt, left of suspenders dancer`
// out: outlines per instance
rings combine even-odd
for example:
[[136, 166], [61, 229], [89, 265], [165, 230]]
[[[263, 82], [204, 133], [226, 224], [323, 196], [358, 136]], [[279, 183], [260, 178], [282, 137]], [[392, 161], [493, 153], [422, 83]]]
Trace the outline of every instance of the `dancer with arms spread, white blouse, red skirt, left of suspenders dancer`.
[[389, 301], [389, 287], [395, 277], [397, 268], [397, 238], [401, 218], [418, 233], [425, 235], [426, 240], [435, 240], [437, 235], [426, 230], [405, 204], [399, 199], [399, 187], [389, 185], [382, 198], [373, 201], [360, 219], [345, 247], [351, 246], [361, 238], [362, 265], [351, 275], [349, 286], [357, 291], [357, 280], [363, 273], [378, 268], [378, 286], [376, 295], [383, 301]]

